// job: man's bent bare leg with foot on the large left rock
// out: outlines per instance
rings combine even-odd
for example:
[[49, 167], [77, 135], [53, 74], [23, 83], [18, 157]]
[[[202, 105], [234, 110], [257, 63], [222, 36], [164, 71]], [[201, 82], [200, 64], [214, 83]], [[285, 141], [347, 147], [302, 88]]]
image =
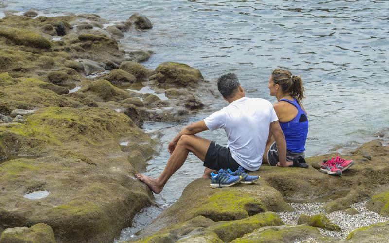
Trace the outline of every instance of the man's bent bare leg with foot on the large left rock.
[[159, 177], [153, 179], [143, 174], [135, 174], [135, 177], [147, 184], [151, 191], [159, 194], [169, 178], [184, 164], [189, 152], [204, 161], [210, 144], [211, 141], [208, 139], [195, 135], [182, 135]]

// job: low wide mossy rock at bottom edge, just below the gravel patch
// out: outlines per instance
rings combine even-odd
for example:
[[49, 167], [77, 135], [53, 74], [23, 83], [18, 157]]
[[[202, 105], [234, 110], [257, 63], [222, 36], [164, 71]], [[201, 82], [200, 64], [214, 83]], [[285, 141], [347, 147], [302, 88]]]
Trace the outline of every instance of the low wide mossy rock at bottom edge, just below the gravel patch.
[[332, 237], [320, 234], [317, 228], [308, 225], [299, 226], [273, 226], [263, 227], [246, 234], [242, 238], [237, 238], [232, 243], [293, 243], [306, 239], [316, 241], [334, 241]]

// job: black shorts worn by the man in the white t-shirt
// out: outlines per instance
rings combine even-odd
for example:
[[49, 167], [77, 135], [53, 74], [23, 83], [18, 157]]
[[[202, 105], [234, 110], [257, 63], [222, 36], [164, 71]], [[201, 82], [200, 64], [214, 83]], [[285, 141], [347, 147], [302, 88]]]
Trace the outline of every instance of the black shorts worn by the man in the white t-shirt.
[[231, 171], [236, 171], [240, 166], [235, 159], [232, 158], [229, 148], [222, 147], [213, 141], [207, 150], [203, 165], [216, 171], [228, 168], [230, 168]]

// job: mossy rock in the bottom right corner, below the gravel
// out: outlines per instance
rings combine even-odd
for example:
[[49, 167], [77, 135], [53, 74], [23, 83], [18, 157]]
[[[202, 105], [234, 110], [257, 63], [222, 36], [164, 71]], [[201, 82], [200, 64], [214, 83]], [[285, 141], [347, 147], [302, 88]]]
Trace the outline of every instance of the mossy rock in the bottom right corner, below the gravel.
[[389, 241], [389, 222], [361, 227], [353, 230], [346, 238], [350, 242], [377, 242]]

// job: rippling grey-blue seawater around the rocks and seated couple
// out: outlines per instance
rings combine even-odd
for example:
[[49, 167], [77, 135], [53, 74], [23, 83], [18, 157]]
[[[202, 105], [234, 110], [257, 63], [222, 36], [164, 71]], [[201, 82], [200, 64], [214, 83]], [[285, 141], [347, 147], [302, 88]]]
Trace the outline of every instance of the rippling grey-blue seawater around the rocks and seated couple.
[[[0, 12], [33, 7], [47, 14], [95, 13], [112, 21], [139, 12], [153, 29], [127, 32], [120, 43], [127, 50], [153, 50], [143, 65], [155, 69], [165, 61], [183, 62], [211, 81], [232, 71], [248, 97], [275, 102], [267, 89], [271, 70], [290, 69], [305, 85], [307, 156], [358, 146], [389, 127], [387, 0], [13, 0], [0, 1], [2, 5]], [[225, 105], [215, 98], [211, 111]], [[146, 123], [146, 132], [163, 133], [163, 150], [148, 161], [146, 174], [157, 176], [169, 158], [170, 140], [210, 112], [179, 123]], [[226, 145], [223, 131], [201, 136]], [[202, 162], [189, 156], [157, 201], [175, 202], [202, 170]]]

